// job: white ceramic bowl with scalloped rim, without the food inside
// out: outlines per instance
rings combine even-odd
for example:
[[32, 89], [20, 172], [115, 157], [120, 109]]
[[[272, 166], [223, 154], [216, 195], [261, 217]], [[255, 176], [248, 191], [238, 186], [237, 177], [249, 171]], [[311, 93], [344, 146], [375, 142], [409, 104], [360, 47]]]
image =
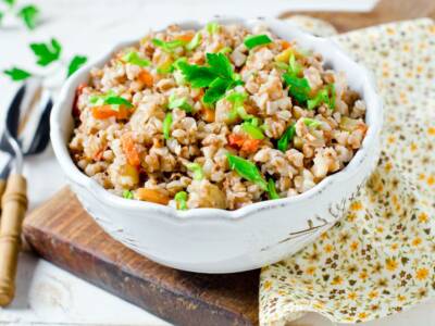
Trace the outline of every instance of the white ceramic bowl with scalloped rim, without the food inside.
[[[225, 18], [222, 24], [251, 27], [259, 20]], [[104, 190], [82, 173], [67, 150], [75, 89], [87, 82], [89, 70], [101, 66], [114, 50], [87, 64], [64, 85], [51, 113], [51, 140], [72, 189], [95, 221], [116, 240], [145, 256], [171, 267], [202, 273], [231, 273], [261, 267], [290, 255], [341, 217], [359, 187], [374, 168], [380, 151], [382, 104], [368, 72], [332, 40], [300, 32], [289, 23], [261, 20], [276, 35], [323, 54], [325, 63], [347, 74], [349, 85], [366, 102], [369, 129], [361, 149], [343, 171], [293, 198], [263, 201], [236, 211], [170, 206], [126, 200]], [[206, 22], [179, 23], [201, 27]], [[159, 26], [163, 28], [163, 26]], [[158, 28], [154, 28], [158, 29]]]

